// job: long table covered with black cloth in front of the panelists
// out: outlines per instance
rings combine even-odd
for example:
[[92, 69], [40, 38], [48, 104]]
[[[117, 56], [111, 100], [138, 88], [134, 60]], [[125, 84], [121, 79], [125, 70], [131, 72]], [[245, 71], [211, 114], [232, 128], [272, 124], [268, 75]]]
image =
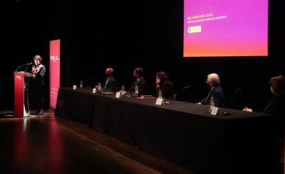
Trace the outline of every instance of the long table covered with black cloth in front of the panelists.
[[197, 173], [271, 173], [275, 167], [274, 116], [231, 109], [231, 115], [212, 115], [209, 105], [169, 102], [60, 88], [55, 114]]

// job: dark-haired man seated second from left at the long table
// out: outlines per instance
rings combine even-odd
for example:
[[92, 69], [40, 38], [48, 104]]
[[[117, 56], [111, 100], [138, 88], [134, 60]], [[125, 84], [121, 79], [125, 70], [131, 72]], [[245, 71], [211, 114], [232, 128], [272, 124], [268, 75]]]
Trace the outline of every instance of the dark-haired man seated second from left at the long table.
[[134, 69], [134, 79], [135, 81], [131, 84], [131, 87], [129, 87], [129, 92], [135, 92], [135, 87], [138, 86], [138, 94], [139, 95], [145, 95], [147, 93], [147, 82], [145, 81], [143, 77], [143, 70], [142, 68], [136, 68]]

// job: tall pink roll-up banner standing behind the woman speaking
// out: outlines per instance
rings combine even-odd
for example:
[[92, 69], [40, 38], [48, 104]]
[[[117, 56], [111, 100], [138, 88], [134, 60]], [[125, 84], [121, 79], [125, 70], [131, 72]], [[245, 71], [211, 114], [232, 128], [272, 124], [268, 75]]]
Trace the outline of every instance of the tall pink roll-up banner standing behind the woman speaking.
[[60, 88], [61, 40], [50, 40], [50, 108], [56, 107]]

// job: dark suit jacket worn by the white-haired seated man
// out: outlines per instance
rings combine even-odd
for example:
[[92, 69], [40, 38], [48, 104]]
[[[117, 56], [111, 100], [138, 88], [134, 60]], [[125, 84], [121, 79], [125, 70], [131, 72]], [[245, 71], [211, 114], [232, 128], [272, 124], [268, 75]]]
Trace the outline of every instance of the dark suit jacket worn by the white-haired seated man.
[[215, 99], [215, 106], [216, 107], [224, 107], [224, 90], [222, 89], [222, 87], [219, 86], [215, 86], [207, 95], [207, 97], [205, 97], [204, 99], [202, 99], [202, 101], [200, 101], [203, 105], [209, 105], [210, 104], [210, 100], [211, 100], [211, 96], [213, 95], [213, 98]]

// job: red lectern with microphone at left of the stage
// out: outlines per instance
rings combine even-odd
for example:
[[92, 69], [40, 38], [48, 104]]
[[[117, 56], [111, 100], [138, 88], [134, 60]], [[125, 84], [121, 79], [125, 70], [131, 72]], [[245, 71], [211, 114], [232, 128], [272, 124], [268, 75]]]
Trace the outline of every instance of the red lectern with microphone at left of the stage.
[[14, 72], [14, 115], [16, 117], [27, 116], [27, 112], [25, 112], [25, 77], [32, 77], [32, 74], [25, 71]]

